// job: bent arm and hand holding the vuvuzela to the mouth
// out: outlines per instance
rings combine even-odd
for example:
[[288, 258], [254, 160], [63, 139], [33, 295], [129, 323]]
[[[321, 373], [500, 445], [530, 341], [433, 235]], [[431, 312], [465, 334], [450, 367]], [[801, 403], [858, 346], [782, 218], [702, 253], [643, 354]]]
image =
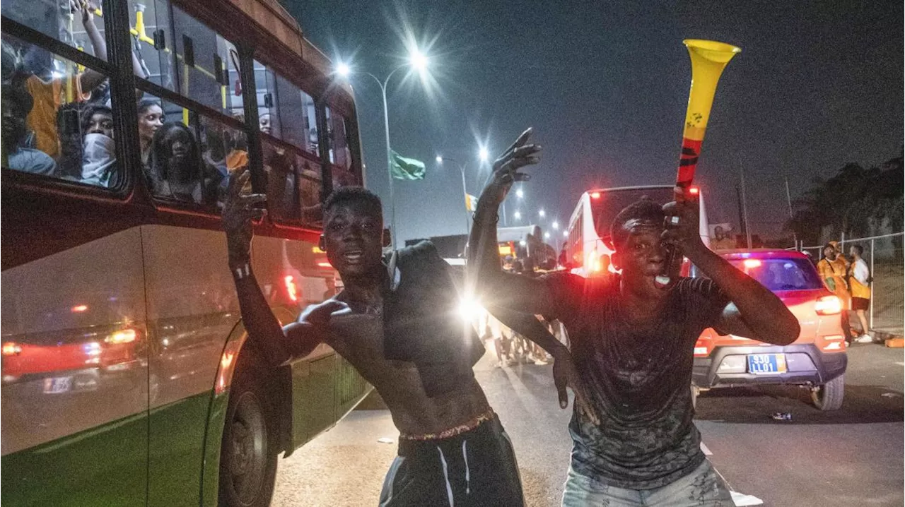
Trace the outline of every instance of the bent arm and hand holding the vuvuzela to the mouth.
[[677, 215], [679, 224], [663, 232], [663, 239], [677, 244], [685, 257], [729, 297], [730, 303], [717, 324], [719, 330], [776, 345], [795, 342], [801, 327], [786, 305], [701, 242], [698, 206], [697, 199], [667, 204], [667, 216]]

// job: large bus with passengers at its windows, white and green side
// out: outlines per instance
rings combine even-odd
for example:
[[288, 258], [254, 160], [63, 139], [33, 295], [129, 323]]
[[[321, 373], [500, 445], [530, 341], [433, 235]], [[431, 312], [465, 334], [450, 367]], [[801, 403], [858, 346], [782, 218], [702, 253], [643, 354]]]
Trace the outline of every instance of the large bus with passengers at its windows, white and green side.
[[326, 345], [260, 359], [223, 192], [248, 166], [267, 193], [253, 268], [281, 322], [333, 295], [352, 91], [275, 0], [60, 4], [0, 3], [0, 503], [267, 505], [278, 455], [370, 387]]

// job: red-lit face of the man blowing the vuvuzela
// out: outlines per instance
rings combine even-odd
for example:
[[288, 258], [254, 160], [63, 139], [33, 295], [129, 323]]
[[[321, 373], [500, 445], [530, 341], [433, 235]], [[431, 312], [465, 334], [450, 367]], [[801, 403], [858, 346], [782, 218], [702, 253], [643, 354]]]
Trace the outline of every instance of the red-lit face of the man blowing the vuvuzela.
[[625, 278], [653, 278], [659, 275], [666, 262], [666, 250], [660, 239], [662, 226], [651, 222], [628, 221], [624, 228], [629, 231], [629, 235], [614, 252], [615, 268], [622, 269]]

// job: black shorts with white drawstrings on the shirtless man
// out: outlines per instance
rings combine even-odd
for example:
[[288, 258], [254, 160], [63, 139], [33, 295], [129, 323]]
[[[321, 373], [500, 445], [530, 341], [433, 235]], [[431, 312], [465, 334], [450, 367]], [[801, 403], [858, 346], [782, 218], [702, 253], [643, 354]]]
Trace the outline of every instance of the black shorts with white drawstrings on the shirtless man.
[[456, 437], [399, 440], [380, 507], [524, 507], [519, 465], [494, 417]]

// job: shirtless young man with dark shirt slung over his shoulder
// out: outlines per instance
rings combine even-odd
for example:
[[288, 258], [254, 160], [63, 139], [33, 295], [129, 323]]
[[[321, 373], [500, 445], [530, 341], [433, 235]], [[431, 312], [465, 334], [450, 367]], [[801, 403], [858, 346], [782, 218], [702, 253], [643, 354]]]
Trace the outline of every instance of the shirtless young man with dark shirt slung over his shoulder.
[[249, 343], [273, 367], [328, 343], [380, 393], [401, 433], [380, 505], [523, 506], [509, 437], [472, 372], [483, 345], [474, 333], [462, 340], [473, 329], [433, 245], [385, 257], [380, 198], [362, 187], [332, 192], [320, 248], [344, 289], [281, 328], [251, 269], [251, 222], [263, 214], [253, 206], [266, 196], [242, 194], [248, 177], [231, 182], [223, 222]]

